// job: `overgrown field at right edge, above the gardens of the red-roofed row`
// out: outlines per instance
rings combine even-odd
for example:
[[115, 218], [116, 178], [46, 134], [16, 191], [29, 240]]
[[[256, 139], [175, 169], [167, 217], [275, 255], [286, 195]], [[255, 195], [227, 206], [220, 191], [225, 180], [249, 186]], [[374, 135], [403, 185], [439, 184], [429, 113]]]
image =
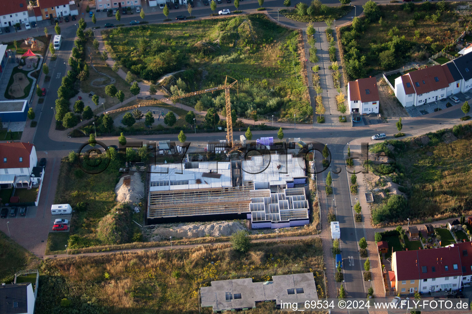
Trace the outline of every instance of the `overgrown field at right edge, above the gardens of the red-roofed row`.
[[380, 186], [389, 179], [406, 194], [405, 198], [387, 193], [374, 205], [374, 224], [405, 222], [406, 218], [431, 221], [472, 213], [472, 124], [420, 138], [385, 141], [371, 146], [370, 152], [385, 152], [396, 161], [396, 165], [370, 165], [369, 170], [377, 175], [391, 172], [380, 175]]

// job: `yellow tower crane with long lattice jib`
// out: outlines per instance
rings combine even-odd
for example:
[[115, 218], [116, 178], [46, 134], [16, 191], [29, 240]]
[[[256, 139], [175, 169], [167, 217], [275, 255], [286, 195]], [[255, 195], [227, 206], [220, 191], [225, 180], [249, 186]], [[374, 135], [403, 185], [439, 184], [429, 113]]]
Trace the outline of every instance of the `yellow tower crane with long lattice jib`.
[[[228, 83], [228, 77], [235, 80], [235, 81], [232, 82], [232, 83]], [[128, 110], [131, 110], [131, 109], [144, 107], [144, 106], [159, 105], [159, 104], [162, 104], [162, 103], [165, 103], [165, 102], [168, 102], [168, 101], [173, 101], [173, 100], [182, 99], [182, 98], [185, 98], [185, 97], [196, 96], [196, 95], [201, 95], [201, 94], [210, 93], [210, 92], [213, 93], [214, 91], [224, 89], [225, 90], [225, 101], [226, 101], [226, 127], [227, 127], [226, 141], [228, 142], [228, 145], [231, 145], [231, 147], [233, 147], [233, 144], [234, 144], [234, 141], [233, 141], [233, 120], [231, 120], [231, 100], [230, 100], [230, 97], [229, 97], [229, 89], [230, 88], [235, 88], [234, 87], [235, 84], [236, 84], [237, 93], [239, 95], [237, 80], [227, 75], [226, 78], [225, 78], [225, 84], [220, 85], [218, 87], [213, 87], [211, 89], [203, 89], [203, 90], [199, 90], [199, 91], [196, 91], [196, 92], [186, 93], [186, 94], [183, 94], [183, 95], [177, 95], [177, 96], [172, 96], [172, 97], [167, 97], [167, 98], [161, 98], [161, 99], [150, 100], [150, 101], [143, 101], [143, 102], [140, 102], [139, 104], [136, 104], [136, 105], [106, 111], [105, 113], [106, 114], [108, 114], [108, 113], [118, 113], [118, 112], [121, 112], [121, 111], [128, 111]]]

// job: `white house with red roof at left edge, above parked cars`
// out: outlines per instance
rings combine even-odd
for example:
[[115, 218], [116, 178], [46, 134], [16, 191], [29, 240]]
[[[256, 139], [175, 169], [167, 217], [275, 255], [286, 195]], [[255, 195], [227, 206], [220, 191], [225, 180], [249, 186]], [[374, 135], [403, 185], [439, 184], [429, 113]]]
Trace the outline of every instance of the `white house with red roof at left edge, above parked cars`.
[[38, 162], [30, 143], [0, 143], [0, 188], [31, 187], [31, 174]]

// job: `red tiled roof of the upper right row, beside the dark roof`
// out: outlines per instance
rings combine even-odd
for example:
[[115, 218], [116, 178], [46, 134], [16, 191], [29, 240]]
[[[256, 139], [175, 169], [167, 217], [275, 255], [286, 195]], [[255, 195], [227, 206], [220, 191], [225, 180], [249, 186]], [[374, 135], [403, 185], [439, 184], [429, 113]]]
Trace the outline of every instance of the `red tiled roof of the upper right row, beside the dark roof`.
[[[441, 65], [434, 65], [421, 70], [409, 72], [405, 75], [410, 76], [413, 82], [413, 88], [417, 95], [429, 93], [437, 89], [444, 89], [449, 86], [446, 74], [444, 74]], [[435, 78], [438, 78], [438, 81]]]

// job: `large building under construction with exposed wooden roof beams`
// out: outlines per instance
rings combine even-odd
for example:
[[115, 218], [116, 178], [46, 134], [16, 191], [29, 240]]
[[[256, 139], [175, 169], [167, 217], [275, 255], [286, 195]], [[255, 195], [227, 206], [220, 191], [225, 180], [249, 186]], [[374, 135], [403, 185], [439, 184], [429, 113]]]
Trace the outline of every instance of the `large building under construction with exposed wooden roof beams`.
[[292, 155], [151, 166], [147, 224], [250, 219], [254, 229], [306, 225], [305, 184], [303, 158]]

